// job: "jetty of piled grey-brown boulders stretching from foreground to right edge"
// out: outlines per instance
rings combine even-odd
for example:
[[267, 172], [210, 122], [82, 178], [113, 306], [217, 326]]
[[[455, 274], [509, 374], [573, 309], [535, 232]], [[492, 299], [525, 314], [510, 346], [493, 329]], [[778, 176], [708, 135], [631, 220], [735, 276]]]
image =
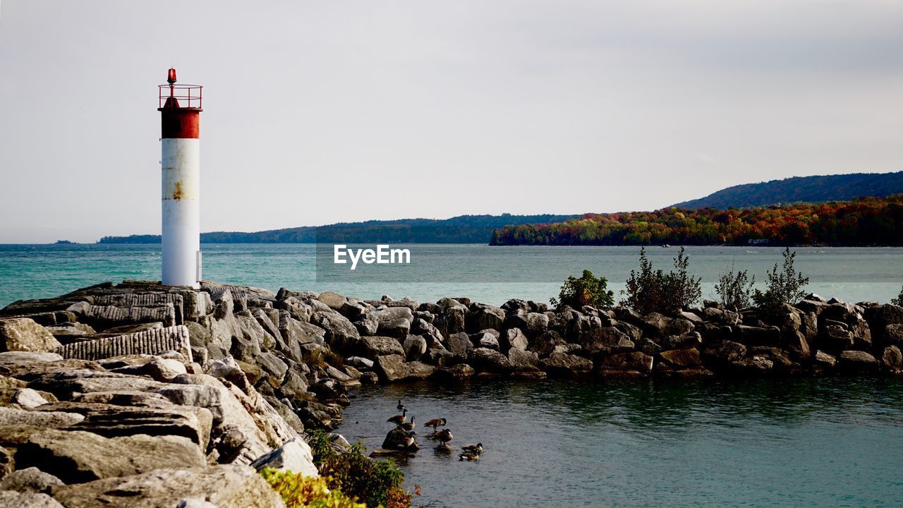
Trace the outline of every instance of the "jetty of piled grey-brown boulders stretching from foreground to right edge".
[[305, 429], [362, 383], [899, 375], [901, 347], [903, 308], [815, 295], [638, 315], [99, 284], [0, 310], [0, 506], [282, 506], [256, 469], [316, 475]]

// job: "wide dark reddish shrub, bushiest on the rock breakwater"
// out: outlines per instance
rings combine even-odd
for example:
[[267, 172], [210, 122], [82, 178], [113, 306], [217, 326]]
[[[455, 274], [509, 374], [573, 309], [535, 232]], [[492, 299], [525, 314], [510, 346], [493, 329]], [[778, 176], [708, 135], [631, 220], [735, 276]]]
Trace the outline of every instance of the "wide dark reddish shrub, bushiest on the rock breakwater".
[[675, 269], [665, 273], [654, 269], [646, 257], [646, 248], [639, 249], [639, 272], [630, 270], [627, 280], [627, 299], [621, 302], [647, 315], [650, 312], [677, 314], [694, 305], [703, 296], [700, 278], [690, 276], [690, 258], [681, 247], [675, 258]]

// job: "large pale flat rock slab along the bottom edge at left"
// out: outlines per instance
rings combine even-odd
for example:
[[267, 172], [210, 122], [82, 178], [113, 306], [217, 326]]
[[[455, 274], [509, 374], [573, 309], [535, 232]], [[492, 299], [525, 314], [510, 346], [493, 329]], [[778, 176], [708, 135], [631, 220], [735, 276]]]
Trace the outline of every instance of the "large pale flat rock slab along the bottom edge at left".
[[247, 466], [160, 469], [143, 475], [54, 487], [66, 508], [172, 508], [182, 499], [218, 508], [284, 508], [269, 484]]

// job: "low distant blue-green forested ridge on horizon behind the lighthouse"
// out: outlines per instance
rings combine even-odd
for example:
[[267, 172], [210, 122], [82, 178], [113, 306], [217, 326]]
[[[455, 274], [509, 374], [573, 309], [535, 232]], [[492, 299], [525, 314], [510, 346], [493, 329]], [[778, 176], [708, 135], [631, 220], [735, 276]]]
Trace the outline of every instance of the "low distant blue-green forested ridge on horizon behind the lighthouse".
[[[575, 219], [579, 215], [461, 215], [451, 219], [340, 222], [255, 232], [200, 233], [201, 243], [487, 243], [504, 226]], [[160, 235], [106, 236], [98, 243], [160, 243]]]

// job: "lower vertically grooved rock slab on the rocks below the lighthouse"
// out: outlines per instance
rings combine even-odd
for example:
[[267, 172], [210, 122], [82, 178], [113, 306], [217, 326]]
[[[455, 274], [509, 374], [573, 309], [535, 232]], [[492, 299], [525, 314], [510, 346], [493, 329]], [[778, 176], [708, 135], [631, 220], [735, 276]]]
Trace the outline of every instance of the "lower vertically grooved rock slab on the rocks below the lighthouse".
[[191, 362], [191, 340], [185, 325], [145, 330], [137, 334], [119, 335], [94, 341], [70, 343], [55, 350], [64, 358], [101, 360], [128, 354], [182, 353]]

